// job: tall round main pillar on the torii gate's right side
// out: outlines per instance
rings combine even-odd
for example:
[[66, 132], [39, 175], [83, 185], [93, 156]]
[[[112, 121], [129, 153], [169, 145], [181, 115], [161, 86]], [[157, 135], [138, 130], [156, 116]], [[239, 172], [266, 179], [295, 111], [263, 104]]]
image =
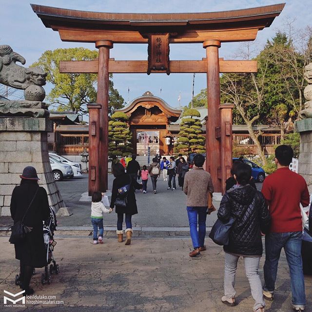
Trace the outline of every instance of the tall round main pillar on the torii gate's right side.
[[221, 187], [221, 118], [220, 105], [220, 69], [219, 40], [207, 40], [203, 43], [207, 55], [207, 102], [208, 120], [206, 121], [206, 171], [213, 179], [215, 192], [220, 193]]

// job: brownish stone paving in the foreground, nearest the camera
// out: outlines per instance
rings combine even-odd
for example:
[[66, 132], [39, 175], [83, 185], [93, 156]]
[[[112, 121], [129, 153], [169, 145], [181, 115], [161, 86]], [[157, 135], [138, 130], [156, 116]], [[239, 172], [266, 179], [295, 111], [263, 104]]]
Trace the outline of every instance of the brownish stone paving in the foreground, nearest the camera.
[[[223, 250], [207, 241], [208, 250], [197, 258], [188, 256], [189, 238], [137, 238], [130, 246], [105, 238], [103, 245], [92, 245], [86, 237], [57, 237], [55, 257], [59, 275], [52, 275], [51, 285], [41, 285], [37, 269], [31, 286], [37, 295], [56, 296], [60, 305], [26, 304], [25, 307], [3, 306], [3, 290], [17, 293], [14, 285], [19, 262], [8, 237], [0, 237], [1, 311], [43, 312], [240, 312], [253, 311], [244, 265], [239, 260], [236, 275], [238, 306], [230, 308], [220, 302], [223, 292]], [[260, 274], [263, 279], [264, 257]], [[312, 276], [305, 277], [307, 312], [312, 312]], [[267, 311], [291, 309], [288, 267], [282, 253], [275, 299]]]

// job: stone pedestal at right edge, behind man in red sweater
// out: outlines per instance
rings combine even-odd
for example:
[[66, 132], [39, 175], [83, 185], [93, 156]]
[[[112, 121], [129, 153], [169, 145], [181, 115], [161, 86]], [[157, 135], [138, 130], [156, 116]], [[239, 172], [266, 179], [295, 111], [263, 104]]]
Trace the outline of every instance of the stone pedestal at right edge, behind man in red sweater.
[[305, 178], [312, 193], [312, 118], [296, 121], [295, 131], [300, 134], [298, 173]]

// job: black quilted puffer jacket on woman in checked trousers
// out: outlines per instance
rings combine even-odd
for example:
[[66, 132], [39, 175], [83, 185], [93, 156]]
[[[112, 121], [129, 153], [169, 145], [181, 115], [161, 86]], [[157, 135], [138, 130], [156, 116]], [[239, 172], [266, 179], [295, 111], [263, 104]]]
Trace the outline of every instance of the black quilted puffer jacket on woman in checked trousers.
[[270, 215], [261, 192], [249, 184], [231, 189], [222, 197], [218, 218], [227, 222], [230, 216], [235, 222], [231, 228], [229, 245], [224, 251], [250, 256], [262, 255], [261, 232], [270, 230]]

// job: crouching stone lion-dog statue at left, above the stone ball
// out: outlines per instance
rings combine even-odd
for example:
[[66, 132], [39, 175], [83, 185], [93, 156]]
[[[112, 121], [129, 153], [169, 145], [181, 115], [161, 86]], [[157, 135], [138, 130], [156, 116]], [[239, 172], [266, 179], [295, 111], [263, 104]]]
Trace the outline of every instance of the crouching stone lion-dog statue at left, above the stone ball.
[[47, 74], [39, 67], [26, 68], [16, 62], [25, 64], [26, 61], [9, 45], [0, 45], [0, 83], [21, 90], [31, 85], [45, 85]]

